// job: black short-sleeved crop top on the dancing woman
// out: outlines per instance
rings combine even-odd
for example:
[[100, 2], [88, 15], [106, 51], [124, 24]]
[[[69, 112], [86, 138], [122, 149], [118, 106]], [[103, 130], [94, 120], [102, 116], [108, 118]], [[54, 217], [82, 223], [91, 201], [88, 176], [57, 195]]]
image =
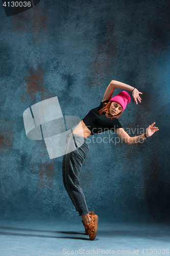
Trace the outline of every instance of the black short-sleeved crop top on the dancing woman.
[[104, 113], [99, 114], [98, 111], [103, 108], [103, 103], [108, 103], [109, 100], [101, 102], [98, 108], [90, 110], [90, 112], [82, 119], [91, 134], [103, 133], [108, 130], [122, 128], [122, 125], [117, 118], [107, 118]]

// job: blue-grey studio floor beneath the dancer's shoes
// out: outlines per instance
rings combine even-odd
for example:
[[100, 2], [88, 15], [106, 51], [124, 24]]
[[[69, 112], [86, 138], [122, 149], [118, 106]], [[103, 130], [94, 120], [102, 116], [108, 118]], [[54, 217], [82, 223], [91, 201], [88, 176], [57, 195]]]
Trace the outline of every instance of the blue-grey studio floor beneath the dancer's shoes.
[[169, 225], [100, 221], [96, 239], [89, 241], [81, 219], [79, 222], [0, 220], [1, 256], [68, 254], [168, 255]]

